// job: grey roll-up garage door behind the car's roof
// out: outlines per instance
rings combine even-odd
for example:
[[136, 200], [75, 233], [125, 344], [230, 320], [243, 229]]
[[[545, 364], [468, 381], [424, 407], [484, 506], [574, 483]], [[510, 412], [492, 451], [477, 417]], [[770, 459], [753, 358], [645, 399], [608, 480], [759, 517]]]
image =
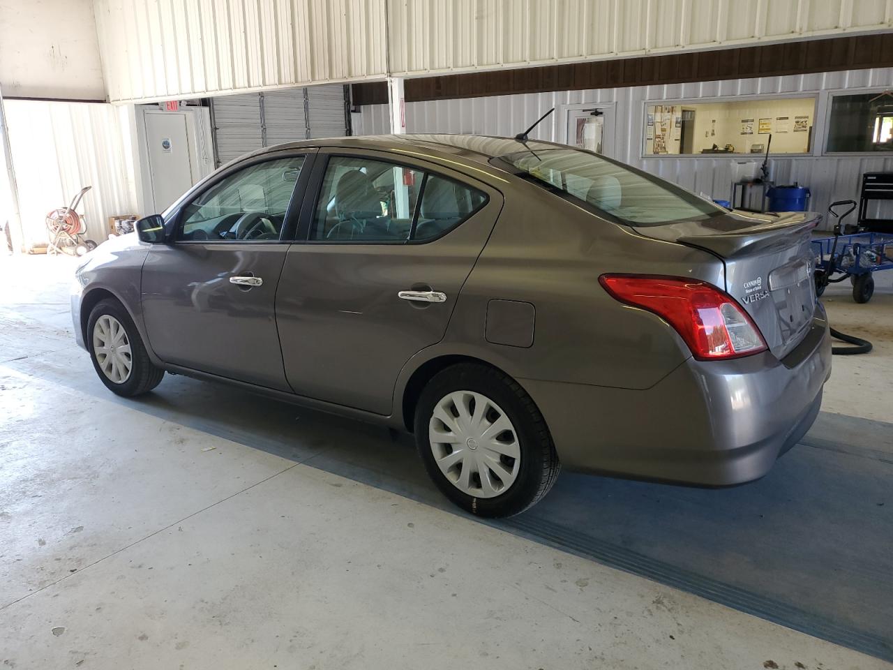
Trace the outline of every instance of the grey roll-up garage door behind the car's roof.
[[348, 135], [345, 93], [324, 84], [213, 98], [217, 165], [282, 142]]

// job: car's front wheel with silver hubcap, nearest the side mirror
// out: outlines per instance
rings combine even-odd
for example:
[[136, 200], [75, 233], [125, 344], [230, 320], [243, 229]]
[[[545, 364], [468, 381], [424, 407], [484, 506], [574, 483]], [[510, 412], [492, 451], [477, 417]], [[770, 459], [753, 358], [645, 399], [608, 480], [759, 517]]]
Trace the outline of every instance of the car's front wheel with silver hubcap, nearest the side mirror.
[[87, 322], [87, 344], [100, 381], [119, 396], [138, 396], [162, 381], [164, 371], [149, 360], [137, 326], [117, 300], [96, 303]]

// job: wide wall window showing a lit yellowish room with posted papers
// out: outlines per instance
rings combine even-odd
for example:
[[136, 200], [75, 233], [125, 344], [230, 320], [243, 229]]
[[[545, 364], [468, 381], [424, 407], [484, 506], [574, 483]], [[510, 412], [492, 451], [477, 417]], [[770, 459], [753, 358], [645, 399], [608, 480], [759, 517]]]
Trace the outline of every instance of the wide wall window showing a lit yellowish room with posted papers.
[[[646, 105], [645, 155], [807, 154], [814, 97]], [[769, 137], [772, 136], [772, 147]]]

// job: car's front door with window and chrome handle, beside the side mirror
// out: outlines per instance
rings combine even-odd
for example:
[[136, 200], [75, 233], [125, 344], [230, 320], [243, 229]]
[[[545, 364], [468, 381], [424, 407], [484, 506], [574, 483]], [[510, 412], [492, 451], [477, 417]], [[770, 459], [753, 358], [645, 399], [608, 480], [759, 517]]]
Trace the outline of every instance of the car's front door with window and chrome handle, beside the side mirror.
[[310, 156], [234, 166], [174, 214], [143, 265], [149, 343], [163, 361], [288, 390], [275, 297]]

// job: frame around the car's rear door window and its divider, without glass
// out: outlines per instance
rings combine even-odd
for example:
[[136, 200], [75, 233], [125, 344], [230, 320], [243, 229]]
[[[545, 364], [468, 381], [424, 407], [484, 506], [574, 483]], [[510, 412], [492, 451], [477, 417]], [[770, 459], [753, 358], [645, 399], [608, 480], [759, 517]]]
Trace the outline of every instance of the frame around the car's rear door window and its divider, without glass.
[[[329, 162], [332, 158], [358, 158], [364, 159], [368, 161], [377, 161], [379, 163], [389, 163], [394, 167], [405, 168], [408, 170], [413, 170], [415, 172], [421, 172], [422, 180], [421, 186], [419, 188], [419, 196], [416, 201], [416, 206], [413, 210], [413, 222], [410, 226], [410, 237], [409, 239], [312, 239], [311, 235], [313, 234], [313, 225], [316, 219], [316, 209], [319, 206], [320, 199], [322, 197], [322, 187], [325, 181], [326, 170], [329, 168]], [[342, 148], [334, 148], [330, 151], [321, 151], [319, 155], [319, 159], [314, 164], [313, 168], [313, 181], [311, 182], [308, 188], [313, 189], [313, 197], [305, 197], [304, 198], [304, 207], [301, 211], [301, 222], [300, 227], [297, 233], [297, 237], [300, 238], [298, 241], [311, 244], [311, 245], [354, 245], [354, 246], [367, 246], [367, 245], [390, 245], [392, 247], [412, 247], [420, 244], [430, 244], [431, 242], [435, 242], [438, 239], [442, 239], [447, 236], [453, 230], [456, 230], [459, 226], [461, 226], [464, 222], [468, 221], [475, 214], [480, 213], [488, 203], [490, 202], [490, 194], [486, 189], [480, 188], [478, 186], [473, 186], [468, 183], [467, 180], [463, 180], [461, 178], [457, 178], [454, 175], [447, 174], [443, 170], [438, 170], [438, 165], [436, 163], [427, 163], [427, 162], [419, 162], [413, 163], [412, 161], [405, 160], [400, 155], [390, 154], [388, 152], [376, 152], [370, 149], [356, 149], [355, 151], [345, 150]], [[443, 230], [440, 234], [425, 238], [425, 239], [413, 239], [413, 235], [415, 234], [416, 224], [418, 222], [419, 213], [421, 211], [421, 199], [425, 195], [425, 182], [428, 180], [430, 175], [434, 175], [440, 179], [453, 181], [455, 183], [463, 185], [465, 188], [471, 188], [472, 190], [480, 192], [483, 195], [484, 199], [481, 201], [480, 205], [475, 207], [471, 212], [463, 216], [458, 222], [456, 222], [453, 226], [450, 226], [447, 230]]]

